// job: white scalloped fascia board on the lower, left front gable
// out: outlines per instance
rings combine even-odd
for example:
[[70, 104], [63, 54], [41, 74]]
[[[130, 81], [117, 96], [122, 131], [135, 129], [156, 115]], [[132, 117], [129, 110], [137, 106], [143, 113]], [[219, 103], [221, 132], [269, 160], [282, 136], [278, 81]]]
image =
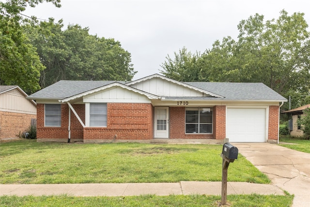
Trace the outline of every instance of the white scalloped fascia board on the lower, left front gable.
[[158, 99], [158, 98], [160, 98], [159, 96], [155, 96], [153, 94], [149, 94], [149, 93], [140, 91], [138, 89], [131, 88], [130, 86], [124, 85], [122, 83], [114, 82], [114, 83], [111, 83], [109, 85], [105, 85], [105, 86], [102, 86], [102, 87], [99, 87], [99, 88], [96, 88], [96, 89], [93, 89], [93, 90], [90, 90], [90, 91], [87, 91], [87, 92], [84, 92], [84, 93], [81, 93], [81, 94], [78, 94], [78, 95], [75, 95], [75, 96], [64, 98], [64, 99], [62, 99], [60, 101], [63, 102], [63, 103], [64, 102], [68, 102], [68, 101], [74, 100], [76, 98], [79, 98], [79, 97], [82, 97], [82, 96], [87, 96], [87, 95], [96, 93], [98, 91], [109, 89], [109, 88], [112, 88], [112, 87], [115, 87], [115, 86], [127, 89], [129, 91], [133, 91], [133, 92], [139, 93], [140, 95], [147, 96], [149, 99]]

